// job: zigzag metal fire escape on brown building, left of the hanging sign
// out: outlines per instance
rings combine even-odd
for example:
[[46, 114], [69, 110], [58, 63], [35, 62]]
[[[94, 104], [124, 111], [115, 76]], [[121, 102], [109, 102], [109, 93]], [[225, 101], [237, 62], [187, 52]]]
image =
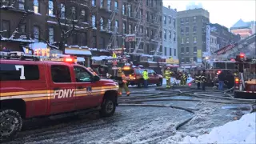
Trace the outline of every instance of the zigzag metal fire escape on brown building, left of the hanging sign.
[[118, 13], [118, 10], [115, 10], [115, 8], [114, 8], [114, 10], [112, 11], [112, 13], [110, 15], [109, 22], [107, 23], [107, 26], [106, 26], [106, 31], [111, 33], [110, 42], [106, 46], [106, 50], [110, 50], [111, 49], [112, 43], [113, 43], [113, 41], [117, 37], [117, 27], [115, 26], [115, 24], [114, 24], [114, 32], [111, 31], [111, 24], [114, 21], [114, 17], [116, 16], [117, 13]]

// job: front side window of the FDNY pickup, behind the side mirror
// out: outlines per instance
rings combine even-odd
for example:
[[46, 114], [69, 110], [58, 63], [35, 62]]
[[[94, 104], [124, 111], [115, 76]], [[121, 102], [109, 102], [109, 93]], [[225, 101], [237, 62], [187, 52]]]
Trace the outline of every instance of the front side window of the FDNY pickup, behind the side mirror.
[[90, 74], [86, 69], [80, 66], [74, 66], [74, 74], [76, 82], [91, 82], [92, 74]]

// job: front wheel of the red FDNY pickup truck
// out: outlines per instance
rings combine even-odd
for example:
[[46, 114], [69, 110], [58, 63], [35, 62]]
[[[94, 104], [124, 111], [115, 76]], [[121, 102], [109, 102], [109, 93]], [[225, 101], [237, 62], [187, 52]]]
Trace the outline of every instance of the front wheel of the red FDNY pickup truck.
[[99, 114], [102, 118], [110, 117], [114, 114], [116, 108], [116, 100], [114, 97], [106, 97], [102, 103], [102, 108]]

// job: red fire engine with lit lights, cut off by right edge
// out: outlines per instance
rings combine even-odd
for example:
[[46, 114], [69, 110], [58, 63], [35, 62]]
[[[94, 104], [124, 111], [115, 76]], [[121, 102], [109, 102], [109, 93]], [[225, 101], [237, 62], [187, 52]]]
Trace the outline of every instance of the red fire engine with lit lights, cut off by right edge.
[[256, 60], [240, 54], [236, 61], [238, 75], [234, 78], [234, 98], [256, 99]]

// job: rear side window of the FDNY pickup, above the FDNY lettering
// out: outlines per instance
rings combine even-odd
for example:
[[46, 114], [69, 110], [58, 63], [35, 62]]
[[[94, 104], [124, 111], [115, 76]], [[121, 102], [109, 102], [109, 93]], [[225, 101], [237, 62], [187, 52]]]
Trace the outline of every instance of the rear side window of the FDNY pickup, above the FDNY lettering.
[[70, 68], [68, 66], [51, 66], [51, 77], [53, 82], [71, 82]]

